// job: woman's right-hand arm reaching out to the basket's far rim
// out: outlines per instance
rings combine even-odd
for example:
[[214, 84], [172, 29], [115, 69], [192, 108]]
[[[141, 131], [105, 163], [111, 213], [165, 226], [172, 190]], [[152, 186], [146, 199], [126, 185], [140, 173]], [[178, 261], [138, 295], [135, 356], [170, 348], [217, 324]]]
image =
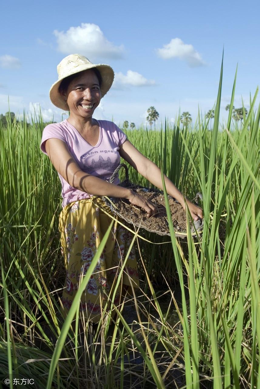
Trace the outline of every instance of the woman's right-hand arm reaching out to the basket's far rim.
[[[152, 161], [146, 158], [143, 154], [141, 154], [133, 145], [126, 140], [120, 146], [120, 155], [124, 158], [128, 163], [130, 163], [138, 173], [144, 176], [148, 181], [150, 181], [153, 185], [157, 186], [159, 189], [163, 189], [163, 183], [161, 180], [161, 170], [156, 166]], [[185, 202], [182, 193], [177, 189], [177, 187], [172, 183], [171, 180], [164, 175], [166, 191], [169, 195], [176, 198], [182, 207], [185, 209]], [[203, 218], [202, 209], [197, 207], [195, 204], [190, 202], [187, 198], [185, 198], [186, 203], [191, 212], [191, 216], [194, 220], [198, 220], [199, 218]]]

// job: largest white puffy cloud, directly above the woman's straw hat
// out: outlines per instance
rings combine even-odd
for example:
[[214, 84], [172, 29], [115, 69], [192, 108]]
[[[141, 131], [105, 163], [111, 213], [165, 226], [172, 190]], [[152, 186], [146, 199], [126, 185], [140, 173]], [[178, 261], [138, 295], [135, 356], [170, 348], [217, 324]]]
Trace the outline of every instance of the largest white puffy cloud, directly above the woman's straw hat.
[[66, 32], [54, 30], [58, 50], [62, 53], [84, 54], [90, 58], [122, 58], [124, 47], [115, 46], [106, 39], [99, 26], [93, 23], [81, 23], [70, 27]]

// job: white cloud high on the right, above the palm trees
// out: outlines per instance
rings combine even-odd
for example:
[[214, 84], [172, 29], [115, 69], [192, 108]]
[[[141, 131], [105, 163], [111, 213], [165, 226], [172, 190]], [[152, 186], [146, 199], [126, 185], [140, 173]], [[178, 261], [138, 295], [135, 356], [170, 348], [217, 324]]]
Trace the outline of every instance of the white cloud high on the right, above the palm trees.
[[164, 60], [179, 58], [186, 61], [190, 67], [205, 65], [198, 51], [192, 45], [182, 42], [180, 38], [172, 39], [170, 43], [163, 45], [163, 48], [157, 49], [156, 52]]

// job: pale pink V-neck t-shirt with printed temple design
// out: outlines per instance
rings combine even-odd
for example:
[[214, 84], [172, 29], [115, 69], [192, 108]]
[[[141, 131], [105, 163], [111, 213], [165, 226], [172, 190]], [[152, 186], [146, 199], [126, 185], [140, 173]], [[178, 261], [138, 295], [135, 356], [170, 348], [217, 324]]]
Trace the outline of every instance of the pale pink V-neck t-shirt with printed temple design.
[[[127, 136], [111, 121], [97, 120], [97, 122], [99, 123], [99, 140], [95, 146], [91, 146], [66, 119], [61, 123], [52, 123], [44, 128], [41, 150], [47, 154], [45, 150], [47, 139], [61, 139], [67, 144], [69, 152], [83, 172], [109, 181], [120, 163], [119, 146], [125, 142]], [[74, 201], [90, 198], [90, 194], [70, 186], [59, 173], [58, 175], [62, 185], [63, 208]], [[117, 178], [113, 184], [118, 183]]]

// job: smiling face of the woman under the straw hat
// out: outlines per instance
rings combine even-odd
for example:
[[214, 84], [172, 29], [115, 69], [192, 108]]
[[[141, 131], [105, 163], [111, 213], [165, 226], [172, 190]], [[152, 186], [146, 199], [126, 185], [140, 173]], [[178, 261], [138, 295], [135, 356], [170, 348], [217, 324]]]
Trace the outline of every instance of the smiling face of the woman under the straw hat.
[[92, 117], [101, 100], [99, 80], [95, 72], [91, 69], [82, 72], [70, 82], [63, 96], [72, 116]]

